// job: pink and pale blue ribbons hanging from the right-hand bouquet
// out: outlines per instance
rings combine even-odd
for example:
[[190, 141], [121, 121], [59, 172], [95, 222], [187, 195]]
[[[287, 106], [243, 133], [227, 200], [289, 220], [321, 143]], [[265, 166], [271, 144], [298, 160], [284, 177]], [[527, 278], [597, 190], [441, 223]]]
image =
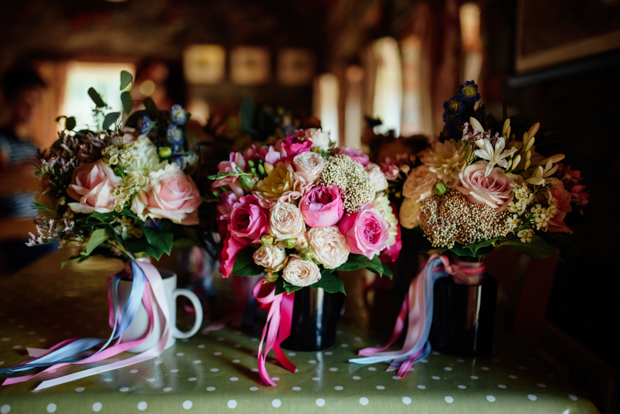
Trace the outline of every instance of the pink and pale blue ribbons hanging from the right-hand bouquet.
[[[362, 349], [359, 355], [365, 358], [353, 358], [349, 362], [366, 365], [391, 361], [388, 371], [398, 368], [399, 378], [407, 375], [413, 364], [428, 356], [431, 351], [428, 334], [433, 320], [433, 287], [437, 279], [447, 276], [452, 276], [458, 284], [476, 285], [484, 277], [484, 265], [466, 262], [451, 264], [447, 256], [431, 256], [411, 281], [390, 341], [380, 348]], [[400, 337], [407, 319], [409, 324], [403, 348], [400, 351], [386, 352]]]

